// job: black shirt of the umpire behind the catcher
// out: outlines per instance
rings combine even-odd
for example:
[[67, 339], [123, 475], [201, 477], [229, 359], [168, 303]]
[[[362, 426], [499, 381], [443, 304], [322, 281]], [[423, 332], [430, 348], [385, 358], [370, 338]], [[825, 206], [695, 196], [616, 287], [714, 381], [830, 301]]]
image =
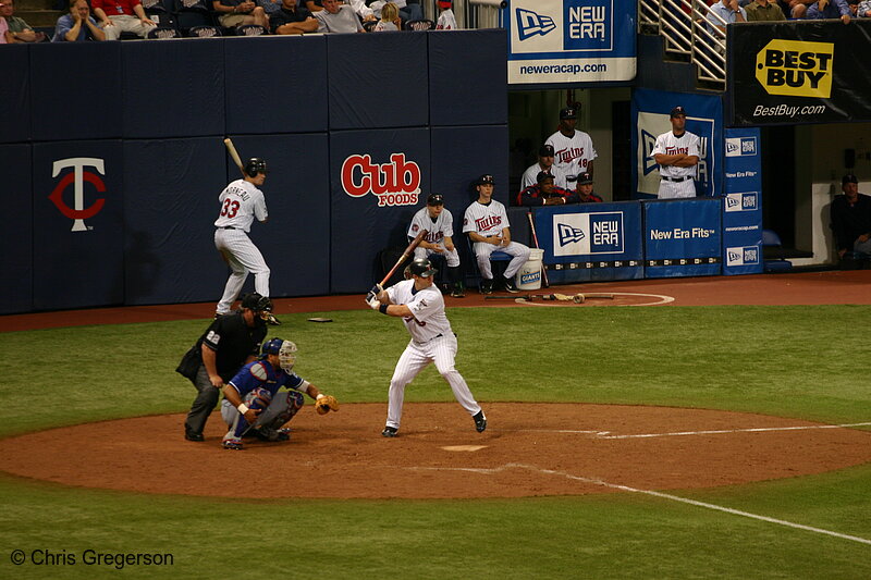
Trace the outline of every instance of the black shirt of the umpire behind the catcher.
[[206, 343], [216, 353], [218, 374], [225, 383], [235, 377], [249, 356], [260, 354], [260, 344], [266, 338], [266, 322], [257, 314], [254, 326], [248, 326], [242, 312], [219, 317], [197, 341], [201, 347]]

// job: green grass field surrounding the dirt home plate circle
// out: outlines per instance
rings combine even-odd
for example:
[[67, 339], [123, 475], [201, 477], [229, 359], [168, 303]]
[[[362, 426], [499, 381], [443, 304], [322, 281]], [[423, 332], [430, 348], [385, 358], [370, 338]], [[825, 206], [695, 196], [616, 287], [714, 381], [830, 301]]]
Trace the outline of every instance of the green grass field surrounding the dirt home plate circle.
[[[334, 322], [306, 322], [311, 316]], [[871, 307], [456, 308], [449, 316], [459, 336], [457, 368], [484, 404], [667, 405], [871, 421], [868, 349], [857, 348], [861, 341], [844, 344], [869, 328]], [[270, 334], [299, 345], [300, 375], [343, 404], [385, 402], [407, 342], [398, 320], [368, 310], [281, 319], [285, 325]], [[186, 411], [194, 390], [173, 369], [206, 323], [0, 334], [0, 436]], [[406, 400], [452, 395], [430, 368]], [[155, 434], [155, 445], [181, 431]], [[0, 472], [0, 576], [871, 578], [869, 543], [641, 494], [257, 501], [256, 474], [245, 472], [240, 455], [238, 472], [226, 474], [240, 489], [232, 502], [82, 490]], [[871, 464], [670, 493], [871, 540]], [[15, 550], [25, 553], [21, 566], [12, 563]], [[173, 562], [120, 571], [83, 562], [88, 550], [167, 553]]]

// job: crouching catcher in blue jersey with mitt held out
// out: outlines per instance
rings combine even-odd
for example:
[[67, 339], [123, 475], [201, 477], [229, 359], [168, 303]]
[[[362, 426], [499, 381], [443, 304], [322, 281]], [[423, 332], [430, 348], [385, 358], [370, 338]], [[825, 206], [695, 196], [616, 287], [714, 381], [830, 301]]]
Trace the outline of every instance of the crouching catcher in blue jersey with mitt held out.
[[[242, 449], [245, 436], [287, 441], [289, 430], [282, 425], [303, 408], [302, 392], [315, 399], [315, 410], [319, 415], [339, 410], [335, 397], [322, 394], [293, 372], [296, 350], [291, 341], [272, 338], [263, 344], [262, 355], [257, 360], [242, 367], [224, 385], [221, 417], [230, 428], [221, 442], [224, 449]], [[287, 391], [279, 393], [282, 386]]]

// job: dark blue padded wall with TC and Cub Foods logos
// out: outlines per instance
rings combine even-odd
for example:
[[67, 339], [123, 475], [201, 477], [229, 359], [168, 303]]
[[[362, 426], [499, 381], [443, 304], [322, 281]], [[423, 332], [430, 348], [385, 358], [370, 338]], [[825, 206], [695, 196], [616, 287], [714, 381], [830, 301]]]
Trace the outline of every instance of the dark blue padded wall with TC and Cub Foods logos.
[[[502, 29], [14, 45], [0, 313], [217, 299], [218, 194], [263, 157], [274, 297], [360, 292], [426, 195], [507, 205]], [[253, 287], [253, 282], [248, 282]]]

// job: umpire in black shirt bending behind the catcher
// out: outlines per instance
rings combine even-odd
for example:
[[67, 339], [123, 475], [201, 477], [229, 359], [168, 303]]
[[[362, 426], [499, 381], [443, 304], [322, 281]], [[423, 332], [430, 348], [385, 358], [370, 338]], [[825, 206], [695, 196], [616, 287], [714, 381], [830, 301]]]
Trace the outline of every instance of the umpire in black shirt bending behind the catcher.
[[272, 301], [266, 296], [256, 292], [246, 295], [241, 310], [216, 318], [182, 358], [175, 372], [189, 379], [199, 392], [184, 422], [187, 441], [204, 441], [203, 429], [224, 383], [257, 358], [271, 311]]

